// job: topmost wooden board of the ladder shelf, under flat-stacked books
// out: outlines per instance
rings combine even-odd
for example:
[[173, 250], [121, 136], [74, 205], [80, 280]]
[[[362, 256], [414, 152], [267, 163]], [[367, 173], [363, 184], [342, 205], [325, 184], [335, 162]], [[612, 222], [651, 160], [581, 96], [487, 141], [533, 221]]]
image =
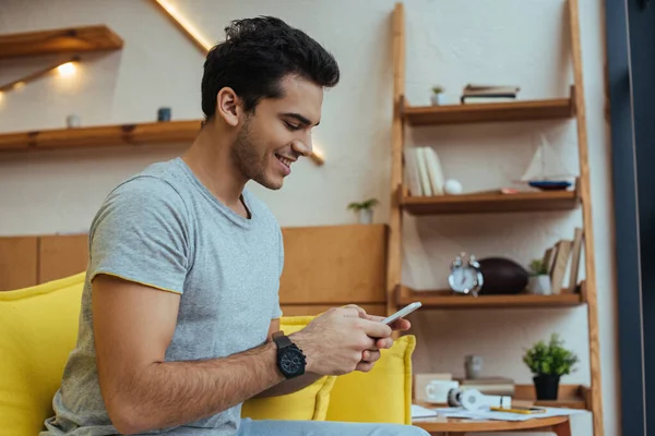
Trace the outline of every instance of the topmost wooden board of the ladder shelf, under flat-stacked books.
[[575, 106], [572, 98], [446, 106], [405, 106], [403, 109], [403, 117], [410, 125], [567, 119], [574, 116]]

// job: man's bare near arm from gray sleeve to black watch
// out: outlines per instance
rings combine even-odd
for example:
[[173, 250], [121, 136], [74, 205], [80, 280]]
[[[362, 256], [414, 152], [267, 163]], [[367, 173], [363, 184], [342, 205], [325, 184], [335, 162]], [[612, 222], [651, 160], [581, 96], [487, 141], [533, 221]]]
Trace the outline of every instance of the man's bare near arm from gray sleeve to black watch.
[[177, 293], [98, 275], [92, 301], [100, 391], [122, 434], [210, 416], [284, 379], [270, 341], [224, 359], [164, 362]]

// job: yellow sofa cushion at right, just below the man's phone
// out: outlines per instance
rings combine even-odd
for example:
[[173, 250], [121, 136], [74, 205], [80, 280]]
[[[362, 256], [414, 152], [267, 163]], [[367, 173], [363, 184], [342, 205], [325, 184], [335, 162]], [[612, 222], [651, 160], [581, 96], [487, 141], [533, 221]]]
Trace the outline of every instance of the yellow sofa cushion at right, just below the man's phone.
[[412, 424], [412, 353], [416, 337], [394, 341], [369, 373], [337, 377], [330, 393], [327, 421]]

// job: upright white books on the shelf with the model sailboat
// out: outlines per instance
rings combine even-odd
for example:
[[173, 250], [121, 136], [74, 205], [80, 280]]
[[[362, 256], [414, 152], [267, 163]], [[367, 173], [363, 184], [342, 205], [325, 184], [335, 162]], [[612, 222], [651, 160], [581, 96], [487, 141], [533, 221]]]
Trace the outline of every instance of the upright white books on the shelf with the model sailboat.
[[432, 147], [405, 147], [405, 184], [412, 196], [443, 195], [443, 171]]

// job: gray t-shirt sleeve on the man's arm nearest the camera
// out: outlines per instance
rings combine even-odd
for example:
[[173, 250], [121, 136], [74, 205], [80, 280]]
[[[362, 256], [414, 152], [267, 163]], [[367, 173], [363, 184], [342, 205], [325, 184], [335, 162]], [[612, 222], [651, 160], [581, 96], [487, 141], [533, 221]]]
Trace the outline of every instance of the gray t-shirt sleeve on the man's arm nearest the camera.
[[114, 190], [91, 228], [90, 274], [183, 293], [190, 258], [188, 210], [167, 182], [142, 177]]

